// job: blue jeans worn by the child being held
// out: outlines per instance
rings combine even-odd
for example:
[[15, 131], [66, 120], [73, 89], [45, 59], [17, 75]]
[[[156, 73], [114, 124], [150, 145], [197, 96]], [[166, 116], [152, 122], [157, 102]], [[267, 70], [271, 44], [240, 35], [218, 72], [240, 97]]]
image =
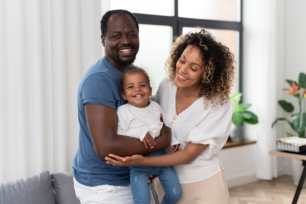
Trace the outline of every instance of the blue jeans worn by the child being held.
[[[166, 154], [166, 151], [161, 150], [146, 156], [163, 154]], [[182, 189], [172, 166], [130, 166], [134, 204], [150, 204], [149, 175], [156, 175], [165, 191], [165, 196], [160, 204], [176, 204], [182, 195]]]

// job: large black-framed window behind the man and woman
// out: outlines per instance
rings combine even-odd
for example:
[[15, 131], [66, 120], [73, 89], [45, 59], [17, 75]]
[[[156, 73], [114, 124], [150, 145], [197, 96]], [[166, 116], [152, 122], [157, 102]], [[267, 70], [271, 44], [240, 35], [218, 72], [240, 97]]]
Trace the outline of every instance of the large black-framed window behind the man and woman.
[[164, 63], [173, 37], [202, 26], [230, 48], [237, 62], [232, 93], [242, 92], [241, 0], [111, 0], [110, 9], [126, 9], [139, 21], [140, 48], [135, 65], [151, 77], [153, 94], [165, 78]]

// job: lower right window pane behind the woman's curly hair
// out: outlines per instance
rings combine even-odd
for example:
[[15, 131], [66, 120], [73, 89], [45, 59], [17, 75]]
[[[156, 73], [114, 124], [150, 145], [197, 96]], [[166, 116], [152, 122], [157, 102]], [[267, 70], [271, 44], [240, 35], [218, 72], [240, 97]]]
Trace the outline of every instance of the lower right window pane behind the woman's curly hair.
[[[215, 37], [216, 41], [221, 42], [230, 49], [230, 52], [234, 54], [234, 60], [236, 64], [236, 76], [234, 86], [232, 87], [231, 93], [236, 93], [239, 91], [239, 31], [235, 30], [220, 30], [220, 29], [207, 29], [208, 32]], [[183, 34], [189, 31], [198, 31], [196, 28], [183, 27]]]

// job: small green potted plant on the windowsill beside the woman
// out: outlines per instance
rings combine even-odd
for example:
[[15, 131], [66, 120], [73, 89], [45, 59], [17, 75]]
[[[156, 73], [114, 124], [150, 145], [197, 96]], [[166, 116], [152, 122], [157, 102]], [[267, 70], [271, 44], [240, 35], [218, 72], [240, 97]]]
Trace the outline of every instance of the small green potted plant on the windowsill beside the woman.
[[243, 122], [249, 124], [258, 123], [258, 117], [255, 113], [247, 110], [250, 103], [240, 103], [242, 93], [238, 92], [230, 96], [230, 100], [233, 102], [233, 116], [232, 116], [232, 130], [230, 139], [233, 142], [241, 142], [244, 138], [243, 135]]

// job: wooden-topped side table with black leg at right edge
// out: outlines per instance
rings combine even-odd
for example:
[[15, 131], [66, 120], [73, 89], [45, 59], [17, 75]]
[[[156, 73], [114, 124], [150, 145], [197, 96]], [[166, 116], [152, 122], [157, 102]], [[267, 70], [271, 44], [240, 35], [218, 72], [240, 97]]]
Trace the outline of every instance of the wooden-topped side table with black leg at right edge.
[[291, 158], [291, 159], [297, 159], [297, 160], [302, 160], [302, 165], [304, 166], [303, 171], [302, 171], [302, 175], [299, 181], [299, 184], [296, 188], [294, 197], [293, 197], [293, 201], [292, 204], [297, 204], [301, 190], [303, 188], [303, 184], [305, 182], [305, 178], [306, 178], [306, 152], [287, 152], [287, 151], [281, 151], [281, 150], [270, 150], [269, 151], [270, 155], [275, 155], [275, 156], [279, 156], [279, 157], [287, 157], [287, 158]]

